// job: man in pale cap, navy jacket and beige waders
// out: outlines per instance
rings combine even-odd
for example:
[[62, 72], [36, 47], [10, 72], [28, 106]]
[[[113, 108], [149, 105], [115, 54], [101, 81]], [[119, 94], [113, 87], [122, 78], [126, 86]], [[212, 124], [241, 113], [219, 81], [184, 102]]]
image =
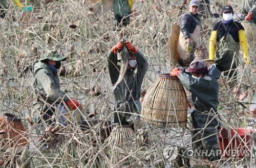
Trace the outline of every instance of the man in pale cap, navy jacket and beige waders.
[[184, 13], [180, 19], [180, 35], [177, 43], [178, 62], [181, 66], [189, 66], [195, 59], [195, 50], [200, 44], [201, 21], [198, 17], [199, 2], [192, 0], [188, 6], [189, 13]]

